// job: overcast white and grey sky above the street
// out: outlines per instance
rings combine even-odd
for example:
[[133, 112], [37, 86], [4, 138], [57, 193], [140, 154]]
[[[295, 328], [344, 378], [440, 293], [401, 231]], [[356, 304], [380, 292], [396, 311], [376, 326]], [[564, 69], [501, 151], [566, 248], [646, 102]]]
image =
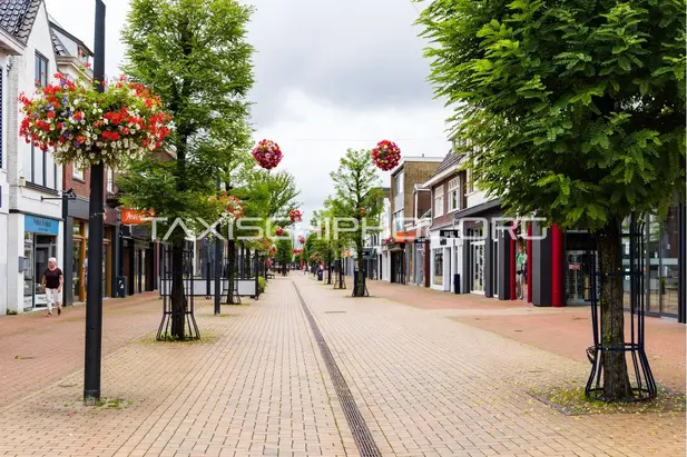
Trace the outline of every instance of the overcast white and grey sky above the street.
[[[46, 0], [48, 12], [92, 49], [94, 1]], [[254, 0], [255, 139], [279, 143], [279, 168], [302, 190], [306, 221], [332, 192], [346, 148], [395, 141], [404, 156], [443, 157], [448, 110], [426, 82], [425, 42], [410, 0]], [[119, 73], [128, 0], [106, 0], [106, 72]], [[389, 173], [381, 173], [389, 186]]]

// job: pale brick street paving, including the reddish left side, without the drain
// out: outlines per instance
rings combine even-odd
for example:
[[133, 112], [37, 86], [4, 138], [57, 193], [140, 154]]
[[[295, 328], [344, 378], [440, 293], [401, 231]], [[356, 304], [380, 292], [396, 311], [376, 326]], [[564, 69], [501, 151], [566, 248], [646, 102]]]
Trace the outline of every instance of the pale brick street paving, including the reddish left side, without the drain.
[[[198, 301], [196, 344], [153, 341], [154, 297], [106, 301], [102, 394], [119, 399], [112, 407], [80, 404], [82, 308], [0, 318], [0, 455], [359, 455], [294, 284], [384, 456], [685, 455], [684, 414], [571, 417], [527, 395], [583, 378], [589, 364], [484, 324], [524, 319], [522, 304], [490, 309], [444, 295], [461, 302], [450, 307], [436, 294], [425, 307], [429, 291], [404, 288], [418, 301], [408, 306], [376, 284], [377, 298], [353, 299], [297, 272], [223, 317]], [[527, 317], [554, 315], [567, 316]], [[684, 327], [668, 324], [684, 351]], [[680, 369], [684, 378], [684, 365], [666, 367], [659, 383]]]

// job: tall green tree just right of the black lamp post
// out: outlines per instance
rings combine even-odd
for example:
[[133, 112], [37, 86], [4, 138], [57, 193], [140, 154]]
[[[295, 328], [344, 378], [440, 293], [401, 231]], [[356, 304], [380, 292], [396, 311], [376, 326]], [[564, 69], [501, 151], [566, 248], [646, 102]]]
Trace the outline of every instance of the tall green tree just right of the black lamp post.
[[[159, 95], [174, 118], [175, 160], [129, 170], [125, 202], [158, 217], [208, 216], [207, 198], [234, 169], [227, 155], [247, 141], [252, 8], [236, 0], [131, 0], [122, 41], [125, 71]], [[185, 338], [184, 234], [173, 244], [171, 336]]]

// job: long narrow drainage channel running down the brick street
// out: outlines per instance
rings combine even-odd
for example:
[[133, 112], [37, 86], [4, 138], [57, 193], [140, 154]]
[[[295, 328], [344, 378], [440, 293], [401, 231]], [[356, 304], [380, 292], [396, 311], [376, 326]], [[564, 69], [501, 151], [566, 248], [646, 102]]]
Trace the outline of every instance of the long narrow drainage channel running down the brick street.
[[313, 330], [320, 351], [322, 352], [324, 365], [326, 365], [332, 383], [334, 384], [336, 396], [338, 397], [338, 401], [341, 401], [344, 415], [346, 416], [346, 421], [349, 423], [351, 434], [353, 435], [353, 439], [355, 440], [355, 445], [357, 446], [361, 457], [381, 457], [382, 454], [374, 443], [374, 438], [372, 438], [372, 434], [370, 433], [370, 428], [367, 427], [365, 419], [363, 419], [363, 415], [360, 409], [357, 409], [353, 394], [351, 394], [351, 389], [349, 388], [343, 374], [338, 369], [338, 365], [336, 365], [336, 360], [334, 360], [334, 356], [332, 356], [332, 351], [324, 340], [324, 337], [320, 331], [320, 327], [317, 327], [317, 322], [315, 322], [313, 314], [305, 304], [305, 300], [301, 295], [301, 290], [298, 290], [298, 286], [296, 286], [295, 282], [293, 282], [293, 285], [296, 289], [296, 295], [298, 296], [303, 311], [305, 312], [307, 321], [311, 325], [311, 329]]

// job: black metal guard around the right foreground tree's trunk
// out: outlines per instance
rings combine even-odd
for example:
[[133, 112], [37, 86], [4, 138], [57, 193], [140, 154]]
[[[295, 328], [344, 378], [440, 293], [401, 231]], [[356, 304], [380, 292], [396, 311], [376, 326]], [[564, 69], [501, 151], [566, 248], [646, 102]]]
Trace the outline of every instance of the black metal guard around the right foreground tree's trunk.
[[[590, 280], [591, 280], [591, 325], [593, 329], [593, 346], [587, 349], [587, 357], [591, 362], [591, 372], [585, 388], [585, 395], [589, 398], [603, 398], [603, 358], [608, 352], [621, 351], [627, 358], [629, 356], [634, 368], [635, 379], [630, 380], [635, 400], [649, 400], [656, 398], [657, 387], [651, 374], [649, 360], [645, 351], [645, 244], [644, 244], [644, 221], [639, 222], [634, 215], [630, 220], [629, 231], [621, 232], [621, 240], [627, 239], [629, 244], [629, 261], [624, 262], [622, 271], [603, 271], [599, 258], [596, 239], [591, 238], [589, 252]], [[595, 261], [596, 260], [596, 261]], [[611, 277], [629, 278], [629, 337], [622, 347], [605, 347], [602, 335], [607, 329], [603, 328], [599, 309], [599, 295], [603, 280]], [[612, 294], [612, 289], [611, 289]], [[625, 290], [624, 290], [625, 295]], [[624, 297], [625, 298], [625, 297]], [[611, 295], [610, 299], [614, 297]], [[626, 324], [627, 338], [627, 324]], [[628, 367], [629, 368], [629, 367]], [[628, 369], [629, 371], [629, 369]], [[629, 375], [629, 374], [628, 374]]]

